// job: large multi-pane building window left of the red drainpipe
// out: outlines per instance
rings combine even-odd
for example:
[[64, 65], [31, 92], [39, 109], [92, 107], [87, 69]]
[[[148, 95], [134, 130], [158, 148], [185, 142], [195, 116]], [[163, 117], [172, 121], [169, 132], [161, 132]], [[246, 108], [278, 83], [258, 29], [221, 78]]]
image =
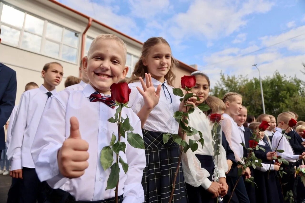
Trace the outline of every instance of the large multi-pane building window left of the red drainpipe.
[[0, 4], [3, 44], [76, 63], [79, 33]]

